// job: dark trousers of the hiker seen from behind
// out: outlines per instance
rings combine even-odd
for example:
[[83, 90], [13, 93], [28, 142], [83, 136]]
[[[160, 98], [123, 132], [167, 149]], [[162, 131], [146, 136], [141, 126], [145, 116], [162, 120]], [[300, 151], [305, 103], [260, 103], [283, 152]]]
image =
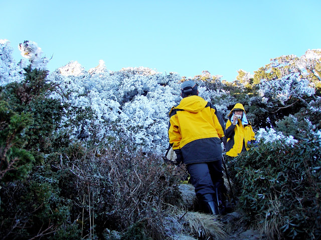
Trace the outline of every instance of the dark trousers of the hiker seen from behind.
[[187, 170], [191, 175], [190, 180], [195, 187], [197, 198], [204, 202], [215, 200], [213, 197], [216, 186], [224, 184], [222, 159], [191, 163], [187, 165]]

